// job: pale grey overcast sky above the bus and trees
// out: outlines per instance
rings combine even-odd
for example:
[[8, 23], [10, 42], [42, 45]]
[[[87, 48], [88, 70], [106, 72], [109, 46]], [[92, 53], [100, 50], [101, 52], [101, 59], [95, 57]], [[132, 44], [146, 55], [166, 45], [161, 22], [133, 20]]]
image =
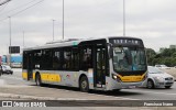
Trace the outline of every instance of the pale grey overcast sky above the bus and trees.
[[[3, 0], [0, 0], [2, 2]], [[11, 16], [12, 45], [26, 47], [62, 38], [63, 0], [11, 0], [0, 6], [0, 54], [9, 46]], [[123, 0], [64, 0], [65, 37], [123, 35]], [[140, 37], [146, 47], [158, 51], [176, 44], [176, 0], [125, 0], [127, 36]]]

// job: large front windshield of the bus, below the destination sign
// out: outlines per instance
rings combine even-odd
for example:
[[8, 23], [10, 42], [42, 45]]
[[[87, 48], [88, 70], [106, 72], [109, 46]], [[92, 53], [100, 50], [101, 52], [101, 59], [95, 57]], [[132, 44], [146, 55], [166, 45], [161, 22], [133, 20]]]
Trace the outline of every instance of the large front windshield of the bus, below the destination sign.
[[142, 47], [113, 47], [114, 72], [145, 70], [145, 52]]

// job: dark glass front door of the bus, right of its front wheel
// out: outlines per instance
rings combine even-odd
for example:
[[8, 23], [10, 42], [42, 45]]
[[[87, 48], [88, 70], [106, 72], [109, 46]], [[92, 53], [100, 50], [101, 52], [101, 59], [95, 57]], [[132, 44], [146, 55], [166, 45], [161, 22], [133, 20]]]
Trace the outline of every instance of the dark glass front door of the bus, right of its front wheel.
[[95, 87], [105, 88], [106, 85], [106, 48], [96, 47], [95, 63]]

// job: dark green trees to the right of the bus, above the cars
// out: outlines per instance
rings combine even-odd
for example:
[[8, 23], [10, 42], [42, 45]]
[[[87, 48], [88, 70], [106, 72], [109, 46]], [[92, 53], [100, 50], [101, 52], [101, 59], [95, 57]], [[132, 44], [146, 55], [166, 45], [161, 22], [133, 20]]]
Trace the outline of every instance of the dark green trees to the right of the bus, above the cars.
[[165, 48], [162, 53], [156, 53], [152, 48], [146, 48], [146, 57], [148, 65], [167, 65], [176, 66], [176, 50], [175, 48]]

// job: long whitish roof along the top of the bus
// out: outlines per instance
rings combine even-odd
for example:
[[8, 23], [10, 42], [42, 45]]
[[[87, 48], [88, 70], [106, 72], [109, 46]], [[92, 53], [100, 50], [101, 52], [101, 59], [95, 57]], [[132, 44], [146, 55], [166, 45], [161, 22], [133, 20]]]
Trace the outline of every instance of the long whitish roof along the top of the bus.
[[131, 37], [131, 36], [108, 36], [108, 37], [94, 37], [94, 38], [68, 38], [68, 40], [61, 40], [61, 41], [54, 41], [54, 42], [47, 42], [44, 45], [41, 46], [34, 46], [34, 47], [26, 47], [23, 48], [23, 51], [32, 51], [32, 50], [44, 50], [44, 48], [54, 48], [54, 47], [65, 47], [65, 46], [76, 46], [81, 42], [86, 41], [95, 41], [95, 40], [109, 40], [109, 38], [134, 38], [134, 40], [141, 40], [138, 37]]

